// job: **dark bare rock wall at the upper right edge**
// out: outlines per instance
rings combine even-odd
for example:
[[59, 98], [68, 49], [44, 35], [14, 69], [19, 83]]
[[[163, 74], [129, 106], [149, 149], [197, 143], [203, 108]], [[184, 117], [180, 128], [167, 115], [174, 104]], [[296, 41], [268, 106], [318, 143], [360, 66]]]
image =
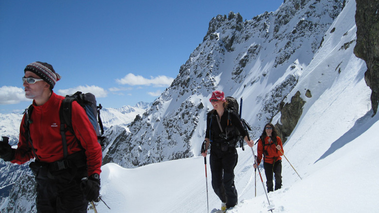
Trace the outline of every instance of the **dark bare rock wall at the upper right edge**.
[[356, 2], [357, 43], [354, 54], [366, 62], [364, 77], [372, 90], [371, 106], [375, 115], [379, 104], [379, 0]]

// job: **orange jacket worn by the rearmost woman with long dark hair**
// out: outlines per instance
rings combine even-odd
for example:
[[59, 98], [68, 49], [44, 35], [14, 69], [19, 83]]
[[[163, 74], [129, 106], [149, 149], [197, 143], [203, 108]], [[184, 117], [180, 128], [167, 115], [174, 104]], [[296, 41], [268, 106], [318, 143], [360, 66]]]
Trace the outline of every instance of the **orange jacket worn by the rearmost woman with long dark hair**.
[[282, 158], [280, 157], [284, 153], [282, 141], [280, 140], [278, 136], [276, 136], [276, 144], [280, 145], [283, 153], [280, 152], [278, 149], [276, 149], [276, 144], [271, 140], [269, 142], [269, 139], [270, 137], [268, 136], [264, 139], [264, 144], [265, 144], [264, 146], [262, 144], [262, 139], [259, 139], [258, 141], [258, 156], [257, 156], [258, 165], [260, 164], [260, 161], [262, 160], [262, 156], [264, 157], [263, 161], [265, 161], [266, 163], [273, 164], [274, 161], [282, 160]]

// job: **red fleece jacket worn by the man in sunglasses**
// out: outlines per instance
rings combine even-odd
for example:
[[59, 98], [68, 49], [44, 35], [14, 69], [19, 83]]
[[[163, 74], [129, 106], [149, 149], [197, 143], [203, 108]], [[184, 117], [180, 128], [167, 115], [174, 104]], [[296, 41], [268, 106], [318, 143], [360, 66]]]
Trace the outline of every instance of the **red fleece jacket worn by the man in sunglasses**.
[[[62, 136], [60, 134], [59, 107], [64, 97], [52, 92], [50, 99], [41, 106], [36, 106], [31, 114], [29, 125], [35, 154], [41, 162], [53, 162], [63, 159]], [[12, 163], [22, 164], [34, 158], [33, 150], [25, 132], [25, 116], [20, 125], [20, 136]], [[82, 150], [77, 139], [85, 149], [88, 176], [101, 173], [102, 149], [97, 141], [95, 130], [88, 120], [85, 110], [77, 102], [72, 102], [72, 127], [75, 132], [66, 132], [68, 154]], [[75, 138], [76, 136], [76, 138]]]

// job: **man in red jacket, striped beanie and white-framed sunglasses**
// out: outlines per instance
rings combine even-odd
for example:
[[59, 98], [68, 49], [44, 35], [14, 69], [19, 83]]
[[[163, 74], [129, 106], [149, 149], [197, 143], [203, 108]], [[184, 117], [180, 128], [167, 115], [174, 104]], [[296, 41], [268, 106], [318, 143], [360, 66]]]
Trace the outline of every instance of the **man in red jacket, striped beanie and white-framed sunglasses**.
[[83, 107], [72, 102], [73, 131], [65, 133], [66, 148], [59, 115], [64, 97], [52, 91], [61, 76], [52, 65], [38, 61], [24, 72], [25, 96], [33, 99], [33, 113], [24, 114], [17, 149], [0, 143], [0, 158], [17, 164], [35, 159], [29, 166], [37, 182], [37, 212], [86, 213], [88, 201], [97, 201], [100, 191], [102, 149], [95, 130]]

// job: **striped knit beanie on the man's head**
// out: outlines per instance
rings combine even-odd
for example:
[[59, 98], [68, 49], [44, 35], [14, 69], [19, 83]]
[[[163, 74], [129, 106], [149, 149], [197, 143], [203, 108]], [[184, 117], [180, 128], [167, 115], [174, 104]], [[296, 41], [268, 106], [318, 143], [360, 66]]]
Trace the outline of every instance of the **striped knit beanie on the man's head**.
[[52, 65], [48, 63], [43, 63], [39, 61], [33, 62], [26, 66], [24, 72], [26, 71], [34, 72], [36, 75], [41, 77], [44, 81], [50, 84], [50, 86], [52, 86], [51, 89], [53, 89], [55, 83], [61, 79], [61, 76], [58, 73], [56, 73], [52, 68]]

